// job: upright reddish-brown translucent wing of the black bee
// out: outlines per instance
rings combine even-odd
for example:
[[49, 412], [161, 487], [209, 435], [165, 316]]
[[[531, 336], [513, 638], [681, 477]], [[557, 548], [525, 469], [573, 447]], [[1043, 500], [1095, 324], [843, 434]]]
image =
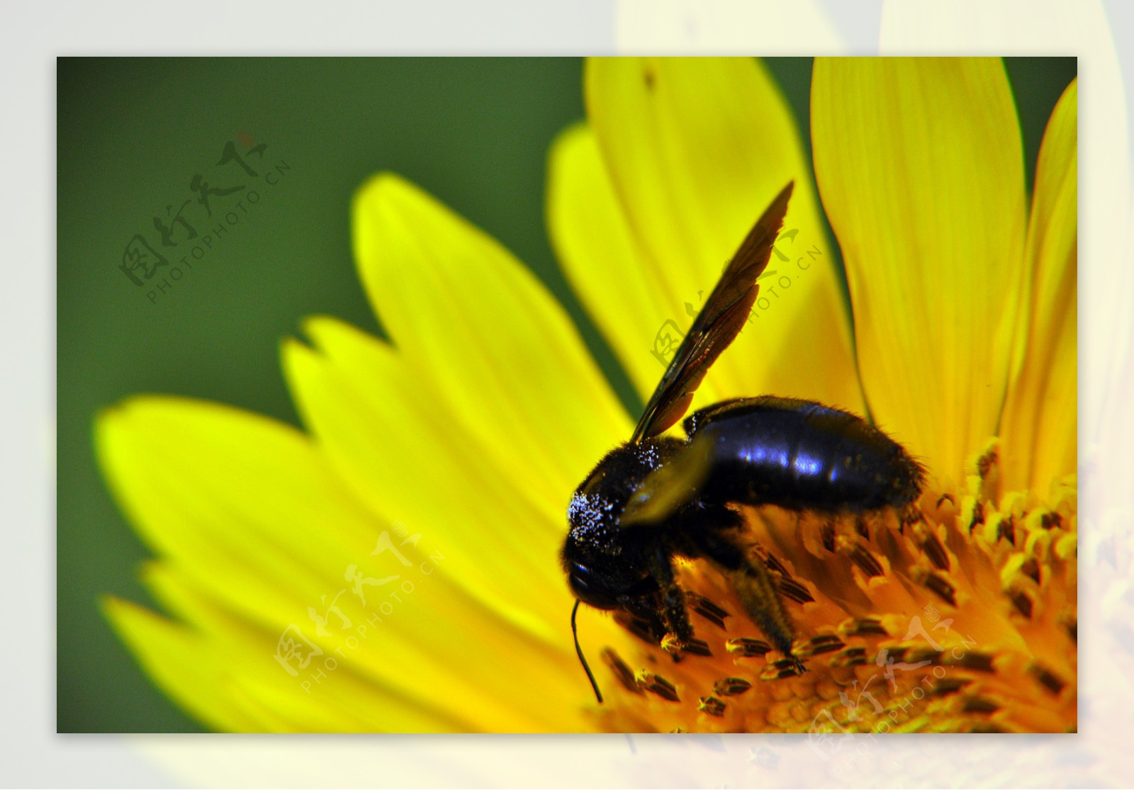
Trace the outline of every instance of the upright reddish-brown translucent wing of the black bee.
[[729, 261], [650, 397], [631, 442], [655, 436], [680, 419], [709, 367], [741, 332], [760, 289], [756, 278], [768, 266], [784, 227], [794, 185], [789, 181], [780, 190]]

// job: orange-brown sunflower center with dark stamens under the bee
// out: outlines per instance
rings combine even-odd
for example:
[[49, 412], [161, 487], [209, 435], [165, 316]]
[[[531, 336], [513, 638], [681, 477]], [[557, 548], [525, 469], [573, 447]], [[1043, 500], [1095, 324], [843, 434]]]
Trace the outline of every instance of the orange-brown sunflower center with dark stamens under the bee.
[[750, 561], [775, 581], [794, 655], [761, 634], [727, 574], [679, 559], [695, 637], [658, 645], [617, 614], [632, 637], [602, 653], [616, 682], [599, 725], [806, 732], [829, 750], [852, 733], [1074, 731], [1076, 481], [997, 496], [990, 448], [963, 491], [926, 491], [907, 513], [744, 508]]

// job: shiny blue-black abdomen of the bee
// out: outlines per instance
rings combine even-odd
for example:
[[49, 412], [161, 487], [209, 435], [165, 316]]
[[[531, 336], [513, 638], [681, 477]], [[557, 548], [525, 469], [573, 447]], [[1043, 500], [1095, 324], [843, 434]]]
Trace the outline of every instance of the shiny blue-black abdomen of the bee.
[[710, 443], [710, 501], [835, 513], [900, 508], [921, 493], [924, 472], [900, 444], [814, 401], [726, 401], [691, 415], [685, 430]]

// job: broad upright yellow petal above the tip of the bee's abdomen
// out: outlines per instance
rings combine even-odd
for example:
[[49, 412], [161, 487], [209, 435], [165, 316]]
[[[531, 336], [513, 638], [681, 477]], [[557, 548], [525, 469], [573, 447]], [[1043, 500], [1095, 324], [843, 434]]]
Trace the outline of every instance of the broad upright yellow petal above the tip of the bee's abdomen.
[[1004, 66], [820, 59], [811, 118], [871, 413], [957, 483], [997, 430], [1022, 278], [1023, 154]]

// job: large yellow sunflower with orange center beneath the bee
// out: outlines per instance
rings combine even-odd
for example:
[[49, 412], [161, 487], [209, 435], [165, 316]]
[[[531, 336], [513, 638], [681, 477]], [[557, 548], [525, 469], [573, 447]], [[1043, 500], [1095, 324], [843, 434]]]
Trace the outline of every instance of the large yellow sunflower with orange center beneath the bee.
[[225, 731], [792, 731], [829, 756], [858, 732], [1074, 729], [1075, 84], [1031, 211], [999, 60], [818, 61], [818, 193], [754, 61], [595, 60], [585, 91], [587, 122], [551, 151], [549, 223], [638, 392], [795, 179], [748, 326], [694, 408], [820, 400], [929, 469], [916, 518], [745, 510], [809, 671], [726, 577], [680, 562], [697, 642], [581, 612], [594, 703], [556, 554], [632, 416], [544, 287], [389, 173], [353, 206], [389, 341], [313, 317], [282, 343], [307, 432], [164, 397], [96, 421], [169, 613], [104, 602], [145, 671]]

